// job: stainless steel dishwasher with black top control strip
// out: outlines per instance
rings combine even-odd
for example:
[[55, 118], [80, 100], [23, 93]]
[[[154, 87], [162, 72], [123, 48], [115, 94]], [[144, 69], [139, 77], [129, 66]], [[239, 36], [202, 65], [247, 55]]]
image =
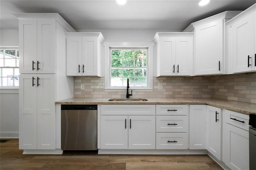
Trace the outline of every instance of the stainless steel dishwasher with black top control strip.
[[61, 105], [61, 149], [97, 150], [97, 105]]

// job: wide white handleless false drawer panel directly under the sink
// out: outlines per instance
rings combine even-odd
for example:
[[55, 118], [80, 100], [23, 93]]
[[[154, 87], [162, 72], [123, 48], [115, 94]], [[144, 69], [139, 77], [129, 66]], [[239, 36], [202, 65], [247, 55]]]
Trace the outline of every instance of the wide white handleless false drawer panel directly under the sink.
[[156, 115], [156, 105], [101, 105], [101, 115]]

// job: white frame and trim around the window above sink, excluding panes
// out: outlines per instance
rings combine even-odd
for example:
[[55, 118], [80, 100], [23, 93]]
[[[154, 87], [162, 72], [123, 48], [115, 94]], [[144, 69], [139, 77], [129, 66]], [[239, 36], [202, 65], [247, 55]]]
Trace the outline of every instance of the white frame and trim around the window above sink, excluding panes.
[[104, 42], [104, 56], [105, 56], [105, 89], [106, 90], [122, 90], [126, 87], [111, 87], [111, 49], [147, 49], [147, 87], [130, 87], [136, 90], [152, 90], [153, 89], [153, 47], [154, 42]]

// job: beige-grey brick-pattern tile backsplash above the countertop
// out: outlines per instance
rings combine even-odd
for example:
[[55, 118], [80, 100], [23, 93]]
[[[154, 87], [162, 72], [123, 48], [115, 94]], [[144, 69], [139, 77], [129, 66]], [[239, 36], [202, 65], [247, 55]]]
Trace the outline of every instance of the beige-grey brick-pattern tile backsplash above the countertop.
[[[84, 84], [84, 90], [81, 89]], [[125, 98], [123, 91], [105, 90], [104, 77], [75, 77], [76, 98]], [[153, 77], [152, 91], [132, 91], [132, 98], [209, 98], [256, 103], [256, 73], [194, 77]]]

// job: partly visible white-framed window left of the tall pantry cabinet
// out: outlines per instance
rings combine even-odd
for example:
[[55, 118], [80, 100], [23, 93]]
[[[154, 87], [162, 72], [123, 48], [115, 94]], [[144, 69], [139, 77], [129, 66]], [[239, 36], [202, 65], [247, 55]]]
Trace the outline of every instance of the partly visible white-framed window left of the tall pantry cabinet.
[[19, 86], [18, 47], [0, 47], [0, 86]]

